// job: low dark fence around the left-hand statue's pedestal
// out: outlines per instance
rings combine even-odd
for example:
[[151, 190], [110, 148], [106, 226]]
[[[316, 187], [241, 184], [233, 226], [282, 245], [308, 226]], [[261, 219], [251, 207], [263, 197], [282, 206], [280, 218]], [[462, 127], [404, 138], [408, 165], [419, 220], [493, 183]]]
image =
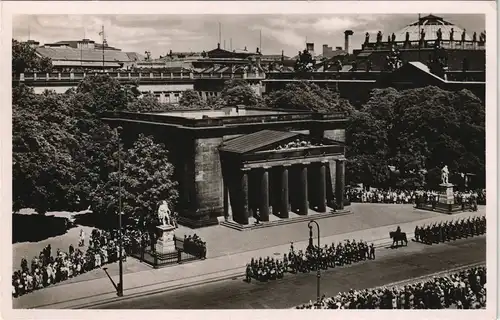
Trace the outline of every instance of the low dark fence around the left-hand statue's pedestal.
[[175, 239], [175, 251], [172, 252], [156, 252], [154, 245], [146, 243], [132, 245], [129, 250], [130, 256], [140, 260], [141, 262], [147, 263], [154, 268], [206, 258], [206, 250], [192, 250], [189, 246], [184, 248], [184, 241], [182, 239]]

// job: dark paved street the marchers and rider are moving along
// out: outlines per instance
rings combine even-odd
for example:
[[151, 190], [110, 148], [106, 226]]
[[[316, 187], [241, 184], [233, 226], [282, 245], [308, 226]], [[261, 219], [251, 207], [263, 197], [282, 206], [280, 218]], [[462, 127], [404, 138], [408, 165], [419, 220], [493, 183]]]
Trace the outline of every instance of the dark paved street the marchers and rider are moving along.
[[[321, 292], [332, 296], [421, 277], [486, 261], [484, 236], [439, 245], [411, 242], [406, 248], [381, 248], [377, 260], [322, 272]], [[263, 309], [290, 308], [314, 300], [316, 273], [291, 275], [269, 283], [242, 277], [101, 305], [104, 309]]]

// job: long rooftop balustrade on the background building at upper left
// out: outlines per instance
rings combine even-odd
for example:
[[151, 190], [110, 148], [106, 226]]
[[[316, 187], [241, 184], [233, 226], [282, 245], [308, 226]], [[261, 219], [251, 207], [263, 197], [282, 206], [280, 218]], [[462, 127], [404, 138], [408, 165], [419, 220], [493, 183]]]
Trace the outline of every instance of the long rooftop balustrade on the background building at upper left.
[[[99, 75], [102, 72], [52, 72], [52, 73], [41, 73], [41, 72], [26, 72], [19, 75], [12, 75], [13, 81], [21, 82], [35, 82], [35, 81], [81, 81], [86, 76]], [[119, 80], [197, 80], [197, 79], [249, 79], [249, 80], [261, 80], [265, 79], [265, 73], [195, 73], [195, 72], [106, 72], [113, 78]]]

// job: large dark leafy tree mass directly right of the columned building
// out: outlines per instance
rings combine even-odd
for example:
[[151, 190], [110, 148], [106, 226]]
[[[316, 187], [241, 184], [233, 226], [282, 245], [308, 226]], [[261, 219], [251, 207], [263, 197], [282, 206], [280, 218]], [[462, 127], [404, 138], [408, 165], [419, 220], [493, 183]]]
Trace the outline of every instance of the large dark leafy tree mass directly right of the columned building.
[[476, 186], [484, 186], [485, 109], [470, 91], [376, 89], [361, 112], [347, 129], [348, 156], [369, 163], [349, 164], [353, 179], [375, 183], [362, 167], [383, 163], [398, 172], [393, 187], [420, 185], [425, 171], [434, 188], [447, 164], [452, 172], [476, 174]]

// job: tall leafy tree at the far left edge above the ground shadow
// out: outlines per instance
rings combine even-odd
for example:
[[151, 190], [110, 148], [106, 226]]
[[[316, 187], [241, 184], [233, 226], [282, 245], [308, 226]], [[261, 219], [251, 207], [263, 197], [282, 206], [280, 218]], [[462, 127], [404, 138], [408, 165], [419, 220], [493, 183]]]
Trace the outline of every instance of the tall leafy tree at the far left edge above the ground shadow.
[[68, 100], [55, 92], [34, 95], [24, 85], [13, 89], [14, 212], [30, 207], [43, 214], [73, 200], [70, 150], [77, 147], [77, 139], [70, 130], [70, 113]]

